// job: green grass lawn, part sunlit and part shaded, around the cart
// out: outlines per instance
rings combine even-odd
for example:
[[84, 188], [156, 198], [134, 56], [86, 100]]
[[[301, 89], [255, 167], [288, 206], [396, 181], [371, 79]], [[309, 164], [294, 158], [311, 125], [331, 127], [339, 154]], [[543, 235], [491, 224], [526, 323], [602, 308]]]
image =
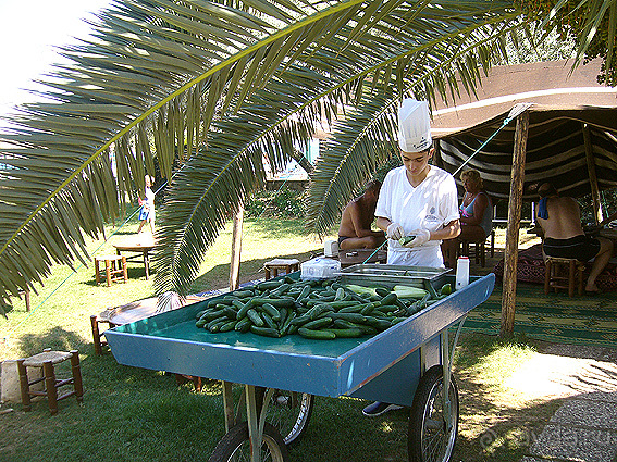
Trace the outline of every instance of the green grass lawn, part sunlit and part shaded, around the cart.
[[[131, 222], [122, 234], [136, 230]], [[113, 232], [108, 229], [108, 235]], [[100, 242], [91, 242], [94, 250]], [[321, 244], [303, 234], [294, 220], [247, 221], [243, 240], [242, 280], [262, 276], [264, 261], [275, 257], [307, 260]], [[111, 244], [98, 252], [110, 252]], [[194, 291], [223, 288], [229, 280], [231, 226], [209, 250]], [[64, 282], [62, 285], [61, 283]], [[78, 349], [84, 402], [60, 402], [49, 414], [46, 401], [25, 413], [21, 403], [0, 407], [0, 460], [46, 461], [207, 461], [224, 433], [221, 389], [208, 382], [201, 392], [177, 385], [173, 375], [119, 365], [112, 354], [95, 355], [89, 316], [151, 297], [143, 265], [129, 264], [127, 284], [96, 286], [92, 265], [54, 267], [45, 287], [33, 295], [30, 313], [16, 300], [9, 319], [0, 317], [0, 360], [17, 359], [42, 348]], [[460, 435], [453, 460], [511, 461], [526, 449], [521, 428], [545, 422], [555, 401], [528, 402], [511, 395], [504, 379], [534, 354], [529, 342], [503, 344], [481, 335], [464, 335], [457, 349], [460, 389]], [[293, 461], [378, 462], [407, 460], [408, 411], [366, 419], [367, 403], [356, 399], [317, 398], [307, 434], [291, 449]], [[12, 409], [12, 411], [10, 411]], [[544, 420], [543, 420], [544, 417]], [[486, 441], [486, 435], [495, 436]]]

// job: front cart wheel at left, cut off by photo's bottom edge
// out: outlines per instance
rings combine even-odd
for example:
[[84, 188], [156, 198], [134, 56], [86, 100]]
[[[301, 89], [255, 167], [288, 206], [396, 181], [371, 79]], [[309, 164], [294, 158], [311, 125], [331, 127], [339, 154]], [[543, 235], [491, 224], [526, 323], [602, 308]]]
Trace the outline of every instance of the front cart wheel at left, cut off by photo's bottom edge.
[[[263, 444], [261, 445], [261, 462], [287, 462], [289, 453], [281, 434], [266, 422], [263, 426]], [[249, 462], [250, 440], [248, 423], [240, 422], [227, 432], [214, 448], [208, 462]]]

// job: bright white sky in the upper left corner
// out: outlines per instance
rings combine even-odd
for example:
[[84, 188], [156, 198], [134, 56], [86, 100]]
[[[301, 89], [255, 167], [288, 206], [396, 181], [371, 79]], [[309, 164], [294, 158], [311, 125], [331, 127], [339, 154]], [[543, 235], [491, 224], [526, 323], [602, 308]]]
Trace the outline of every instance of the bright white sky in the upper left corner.
[[[88, 36], [94, 12], [111, 0], [0, 0], [0, 115], [34, 100], [33, 79], [61, 61], [54, 47]], [[2, 121], [0, 121], [2, 125]]]

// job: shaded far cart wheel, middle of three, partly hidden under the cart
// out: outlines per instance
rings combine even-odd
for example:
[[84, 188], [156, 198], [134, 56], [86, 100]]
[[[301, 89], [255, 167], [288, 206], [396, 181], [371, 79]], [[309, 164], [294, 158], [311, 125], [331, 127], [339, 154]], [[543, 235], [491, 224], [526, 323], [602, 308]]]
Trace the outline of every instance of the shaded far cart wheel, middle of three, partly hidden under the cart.
[[[266, 388], [256, 389], [258, 402], [263, 401]], [[314, 397], [310, 394], [297, 391], [274, 390], [266, 420], [279, 429], [285, 445], [292, 445], [304, 434], [314, 403]]]

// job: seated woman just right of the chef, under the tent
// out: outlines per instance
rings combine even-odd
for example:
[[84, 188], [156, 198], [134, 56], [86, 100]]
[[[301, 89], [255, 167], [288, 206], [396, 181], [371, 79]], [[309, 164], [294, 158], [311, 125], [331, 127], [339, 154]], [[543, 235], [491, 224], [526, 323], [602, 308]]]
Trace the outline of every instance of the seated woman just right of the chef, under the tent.
[[459, 207], [460, 234], [454, 239], [442, 242], [444, 263], [448, 267], [456, 266], [460, 242], [480, 242], [493, 229], [493, 203], [484, 191], [480, 173], [476, 170], [466, 170], [460, 174], [465, 187], [465, 196]]

